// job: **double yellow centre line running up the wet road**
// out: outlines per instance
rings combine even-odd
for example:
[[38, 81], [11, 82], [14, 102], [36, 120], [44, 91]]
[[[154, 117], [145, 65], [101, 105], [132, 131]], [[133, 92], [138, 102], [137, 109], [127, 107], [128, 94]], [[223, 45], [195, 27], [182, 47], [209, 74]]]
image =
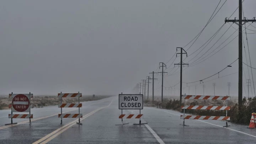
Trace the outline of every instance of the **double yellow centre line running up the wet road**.
[[[112, 101], [113, 101], [113, 100], [112, 100]], [[109, 104], [108, 106], [106, 106], [106, 107], [109, 107], [109, 106], [111, 105], [112, 101], [111, 101], [110, 104]], [[86, 114], [83, 118], [81, 118], [81, 121], [84, 120], [85, 118], [91, 116], [91, 115], [94, 114], [95, 112], [97, 112], [97, 111], [99, 111], [99, 110], [101, 110], [101, 109], [103, 109], [103, 108], [106, 108], [106, 107], [100, 107], [100, 108], [98, 108], [97, 110], [94, 110], [94, 111], [92, 111], [92, 112]], [[77, 121], [78, 121], [78, 119], [76, 119], [76, 120], [73, 121], [73, 122], [70, 122], [70, 123], [66, 124], [65, 126], [62, 126], [62, 127], [58, 128], [58, 129], [54, 130], [52, 133], [46, 135], [45, 137], [43, 137], [43, 138], [37, 140], [36, 142], [34, 142], [34, 143], [32, 143], [32, 144], [46, 144], [46, 143], [48, 143], [50, 140], [54, 139], [55, 137], [57, 137], [59, 134], [63, 133], [63, 132], [64, 132], [65, 130], [67, 130], [68, 128], [74, 126]]]

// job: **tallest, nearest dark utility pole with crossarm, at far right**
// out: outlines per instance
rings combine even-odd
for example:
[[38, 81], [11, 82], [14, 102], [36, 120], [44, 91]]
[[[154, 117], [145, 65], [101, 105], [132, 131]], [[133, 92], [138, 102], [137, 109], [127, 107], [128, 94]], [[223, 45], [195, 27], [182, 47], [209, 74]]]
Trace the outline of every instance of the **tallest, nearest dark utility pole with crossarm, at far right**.
[[[233, 22], [237, 24], [238, 27], [238, 109], [241, 109], [242, 106], [242, 22], [244, 24], [246, 22], [256, 22], [255, 17], [252, 20], [248, 20], [246, 17], [242, 20], [242, 0], [239, 0], [239, 20], [236, 18], [234, 20], [229, 20], [227, 17], [225, 18], [226, 22]], [[237, 23], [238, 22], [238, 23]]]

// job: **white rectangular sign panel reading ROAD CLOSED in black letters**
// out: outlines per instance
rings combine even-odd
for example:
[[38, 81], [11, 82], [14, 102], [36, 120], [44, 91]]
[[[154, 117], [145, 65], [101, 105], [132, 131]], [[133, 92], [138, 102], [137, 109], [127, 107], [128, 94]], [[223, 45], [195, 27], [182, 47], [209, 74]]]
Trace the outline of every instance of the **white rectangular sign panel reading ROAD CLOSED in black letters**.
[[119, 109], [142, 110], [143, 95], [119, 94]]

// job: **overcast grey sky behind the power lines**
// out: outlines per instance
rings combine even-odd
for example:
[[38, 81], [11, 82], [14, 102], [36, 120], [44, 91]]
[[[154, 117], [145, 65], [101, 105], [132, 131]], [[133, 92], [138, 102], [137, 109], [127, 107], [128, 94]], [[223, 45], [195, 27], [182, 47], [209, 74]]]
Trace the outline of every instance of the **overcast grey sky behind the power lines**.
[[[224, 1], [220, 2], [219, 7]], [[218, 2], [219, 0], [2, 0], [0, 94], [32, 92], [38, 95], [57, 94], [60, 91], [114, 95], [131, 93], [133, 87], [145, 79], [148, 73], [160, 71], [159, 62], [170, 66], [175, 57], [170, 62], [167, 61], [175, 54], [176, 47], [184, 47], [202, 30]], [[245, 17], [252, 19], [256, 16], [255, 6], [255, 0], [244, 0]], [[187, 51], [188, 55], [201, 47], [224, 24], [224, 18], [229, 17], [237, 7], [238, 0], [227, 0]], [[238, 10], [231, 16], [232, 19], [234, 17], [238, 17]], [[226, 23], [212, 42], [190, 62], [206, 52], [229, 26]], [[238, 28], [235, 24], [232, 26]], [[256, 27], [256, 23], [252, 23], [252, 26]], [[256, 28], [252, 26], [248, 28], [254, 31], [247, 30], [247, 33], [255, 33]], [[233, 27], [229, 28], [209, 52], [235, 31]], [[237, 35], [238, 31], [226, 43]], [[247, 34], [252, 67], [256, 67], [255, 36], [256, 34]], [[189, 46], [184, 49], [187, 50]], [[247, 45], [245, 48], [249, 61]], [[188, 62], [200, 50], [184, 62]], [[243, 56], [243, 61], [246, 62], [245, 55]], [[183, 71], [183, 82], [207, 78], [237, 58], [238, 38], [204, 62], [189, 66]], [[180, 57], [176, 58], [174, 63], [179, 63], [179, 60]], [[173, 67], [174, 64], [165, 71], [169, 72]], [[247, 79], [249, 76], [247, 67], [244, 68], [243, 79], [247, 91], [245, 76]], [[165, 75], [165, 87], [173, 86], [179, 81], [179, 73], [170, 75], [175, 70], [176, 68]], [[256, 70], [252, 71], [256, 85]], [[235, 72], [238, 72], [238, 61], [219, 73], [219, 76]], [[155, 92], [160, 95], [161, 89], [158, 88], [161, 86], [161, 76], [156, 78]], [[204, 81], [215, 78], [218, 75]], [[204, 82], [206, 95], [213, 95], [213, 82], [217, 85], [216, 95], [228, 94], [227, 82], [231, 82], [230, 95], [238, 95], [238, 73]], [[202, 95], [203, 87], [199, 82], [188, 84], [193, 85], [190, 87], [190, 94], [195, 93], [194, 84], [198, 84], [197, 94]], [[251, 85], [253, 88], [253, 84]], [[183, 86], [188, 94], [188, 87], [186, 84]], [[150, 85], [150, 94], [151, 89]], [[179, 85], [175, 86], [176, 95], [177, 89]], [[171, 90], [164, 89], [164, 95], [174, 95], [174, 92], [171, 94]]]

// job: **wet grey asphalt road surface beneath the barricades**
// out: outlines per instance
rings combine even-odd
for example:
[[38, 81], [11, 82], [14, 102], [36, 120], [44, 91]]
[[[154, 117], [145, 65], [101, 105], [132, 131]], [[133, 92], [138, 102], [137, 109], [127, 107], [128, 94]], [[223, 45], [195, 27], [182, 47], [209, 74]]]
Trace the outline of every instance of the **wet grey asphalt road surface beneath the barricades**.
[[[112, 101], [112, 103], [111, 103]], [[110, 104], [111, 103], [111, 104]], [[89, 106], [90, 105], [90, 106]], [[101, 108], [102, 109], [98, 109]], [[64, 111], [72, 110], [66, 108]], [[77, 109], [76, 109], [77, 110]], [[95, 110], [98, 110], [95, 112]], [[229, 128], [223, 128], [225, 122], [222, 121], [197, 121], [187, 120], [189, 127], [180, 126], [182, 120], [180, 113], [170, 110], [144, 107], [141, 111], [144, 114], [143, 122], [145, 125], [133, 125], [138, 123], [137, 119], [124, 119], [129, 122], [127, 125], [121, 124], [118, 115], [118, 97], [105, 98], [93, 102], [84, 102], [81, 108], [84, 120], [83, 125], [71, 124], [73, 118], [63, 119], [63, 125], [60, 124], [58, 116], [47, 117], [29, 123], [19, 124], [14, 127], [3, 128], [5, 123], [10, 123], [9, 111], [0, 113], [0, 144], [31, 144], [38, 142], [42, 138], [52, 144], [255, 144], [256, 129], [247, 129], [247, 126], [230, 124]], [[34, 108], [34, 118], [40, 118], [57, 114], [60, 108], [57, 106]], [[72, 111], [69, 113], [76, 113]], [[91, 114], [91, 112], [95, 112]], [[124, 114], [138, 114], [139, 110], [124, 110]], [[86, 114], [91, 114], [86, 117]], [[2, 118], [1, 118], [2, 117]], [[27, 121], [14, 119], [14, 122]], [[207, 122], [207, 123], [206, 123]], [[68, 126], [64, 128], [62, 126]], [[59, 128], [61, 131], [53, 133]], [[153, 129], [152, 131], [148, 129]], [[155, 133], [154, 133], [155, 132]], [[52, 134], [50, 134], [52, 133]], [[49, 135], [50, 134], [50, 135]], [[157, 136], [156, 136], [157, 135]], [[156, 139], [155, 137], [159, 137]]]

